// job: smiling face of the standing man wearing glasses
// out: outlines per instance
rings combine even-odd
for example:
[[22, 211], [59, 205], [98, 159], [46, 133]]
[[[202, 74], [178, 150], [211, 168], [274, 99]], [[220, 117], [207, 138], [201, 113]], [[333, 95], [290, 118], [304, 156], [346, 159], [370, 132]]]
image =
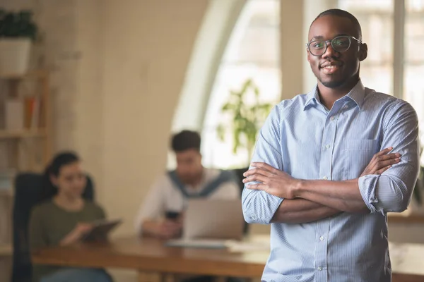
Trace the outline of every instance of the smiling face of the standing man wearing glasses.
[[[310, 27], [309, 42], [315, 39], [331, 40], [338, 35], [351, 35], [359, 39], [358, 30], [348, 18], [323, 16]], [[307, 51], [307, 61], [319, 83], [329, 88], [355, 85], [359, 78], [360, 61], [366, 58], [366, 45], [352, 39], [351, 47], [344, 52], [334, 51], [328, 42], [322, 56], [314, 56]], [[350, 83], [351, 82], [351, 83]]]

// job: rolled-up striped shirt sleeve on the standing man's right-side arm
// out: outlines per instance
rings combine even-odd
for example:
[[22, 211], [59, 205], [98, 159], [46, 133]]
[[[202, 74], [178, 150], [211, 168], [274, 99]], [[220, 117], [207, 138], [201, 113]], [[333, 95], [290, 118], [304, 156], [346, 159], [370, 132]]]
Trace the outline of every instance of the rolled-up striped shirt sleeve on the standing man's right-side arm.
[[401, 161], [382, 175], [359, 178], [360, 194], [372, 213], [403, 212], [411, 201], [420, 168], [416, 111], [399, 100], [388, 113], [382, 148], [393, 147], [392, 152], [401, 154]]

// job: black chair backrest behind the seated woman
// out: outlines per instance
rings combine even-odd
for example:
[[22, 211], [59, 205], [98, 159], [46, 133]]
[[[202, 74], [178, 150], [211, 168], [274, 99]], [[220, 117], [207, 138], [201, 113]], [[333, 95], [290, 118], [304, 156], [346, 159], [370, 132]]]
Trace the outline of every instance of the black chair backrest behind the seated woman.
[[[32, 265], [28, 238], [28, 225], [33, 207], [53, 197], [55, 190], [47, 188], [45, 179], [38, 173], [20, 173], [15, 178], [13, 201], [13, 267], [12, 282], [30, 282]], [[87, 176], [83, 192], [87, 200], [94, 200], [93, 181]]]

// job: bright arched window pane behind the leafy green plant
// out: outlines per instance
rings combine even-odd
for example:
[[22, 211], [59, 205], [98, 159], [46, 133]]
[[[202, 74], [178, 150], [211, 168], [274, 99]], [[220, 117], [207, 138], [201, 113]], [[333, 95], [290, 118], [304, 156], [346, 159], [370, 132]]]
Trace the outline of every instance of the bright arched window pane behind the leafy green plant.
[[204, 165], [215, 168], [244, 167], [249, 164], [247, 150], [232, 152], [232, 132], [225, 130], [221, 141], [216, 133], [220, 123], [231, 117], [221, 108], [231, 90], [239, 90], [247, 79], [259, 87], [262, 102], [276, 104], [281, 96], [280, 71], [280, 3], [278, 0], [249, 0], [232, 30], [211, 97], [202, 131]]

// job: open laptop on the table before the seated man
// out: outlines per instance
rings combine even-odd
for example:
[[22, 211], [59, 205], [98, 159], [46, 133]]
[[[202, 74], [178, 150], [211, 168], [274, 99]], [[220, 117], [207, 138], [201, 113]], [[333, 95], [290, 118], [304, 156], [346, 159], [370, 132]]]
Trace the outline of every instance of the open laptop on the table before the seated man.
[[227, 240], [241, 240], [245, 220], [241, 200], [189, 200], [184, 214], [182, 239], [166, 245], [225, 247]]

